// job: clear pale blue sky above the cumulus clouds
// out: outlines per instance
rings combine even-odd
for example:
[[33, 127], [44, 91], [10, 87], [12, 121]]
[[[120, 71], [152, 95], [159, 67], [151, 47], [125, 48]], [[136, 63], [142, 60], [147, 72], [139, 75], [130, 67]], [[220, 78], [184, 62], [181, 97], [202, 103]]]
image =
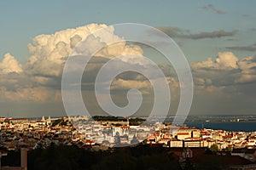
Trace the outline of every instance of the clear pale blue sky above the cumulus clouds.
[[[204, 9], [208, 4], [225, 14], [216, 14], [211, 8]], [[256, 27], [255, 5], [255, 1], [2, 1], [0, 56], [3, 58], [3, 54], [10, 52], [24, 62], [28, 55], [26, 44], [32, 41], [32, 37], [90, 23], [135, 22], [149, 26], [176, 26], [194, 33], [239, 31], [236, 42], [210, 39], [189, 41], [189, 46], [191, 43], [192, 46], [181, 47], [189, 60], [198, 60], [216, 55], [218, 49], [214, 48], [218, 46], [253, 44], [255, 32], [252, 35], [248, 30]], [[200, 46], [206, 48], [198, 52]]]

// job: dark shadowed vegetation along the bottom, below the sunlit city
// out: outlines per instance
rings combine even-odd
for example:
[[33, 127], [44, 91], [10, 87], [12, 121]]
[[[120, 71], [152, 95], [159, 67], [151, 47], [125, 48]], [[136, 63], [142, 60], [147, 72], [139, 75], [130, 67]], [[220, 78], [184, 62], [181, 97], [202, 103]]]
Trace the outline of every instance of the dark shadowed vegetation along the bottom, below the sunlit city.
[[[2, 166], [20, 166], [20, 150], [3, 156]], [[192, 165], [189, 160], [183, 169], [227, 169], [221, 160]], [[139, 144], [136, 147], [114, 148], [105, 151], [84, 150], [77, 146], [51, 144], [46, 149], [28, 152], [28, 170], [104, 170], [104, 169], [182, 169], [177, 157], [160, 145]]]

